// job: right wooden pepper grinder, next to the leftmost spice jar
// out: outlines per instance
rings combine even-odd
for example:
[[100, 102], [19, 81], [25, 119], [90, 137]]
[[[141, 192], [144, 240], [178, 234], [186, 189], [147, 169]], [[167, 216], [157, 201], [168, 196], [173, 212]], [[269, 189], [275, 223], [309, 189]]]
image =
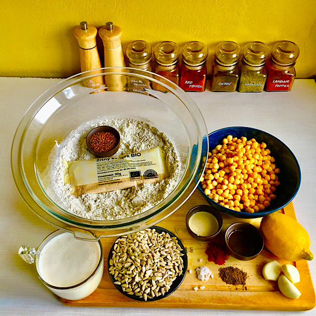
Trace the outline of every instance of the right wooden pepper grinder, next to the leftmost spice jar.
[[[104, 67], [125, 67], [121, 35], [122, 29], [112, 22], [107, 22], [99, 29], [99, 36], [104, 46]], [[107, 75], [105, 78], [109, 91], [124, 91], [126, 83], [126, 77], [123, 75]]]

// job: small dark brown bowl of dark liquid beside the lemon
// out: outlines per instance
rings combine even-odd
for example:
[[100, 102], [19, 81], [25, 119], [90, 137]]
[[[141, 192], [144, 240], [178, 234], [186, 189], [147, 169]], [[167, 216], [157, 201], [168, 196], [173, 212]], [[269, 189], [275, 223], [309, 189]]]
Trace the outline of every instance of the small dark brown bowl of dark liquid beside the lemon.
[[[248, 238], [247, 240], [244, 240], [245, 243], [243, 245], [239, 243], [233, 250], [229, 246], [229, 238], [231, 237], [231, 234], [236, 231], [245, 233]], [[230, 255], [242, 261], [249, 261], [256, 258], [264, 247], [264, 239], [259, 229], [249, 223], [243, 222], [234, 223], [226, 229], [225, 242]], [[244, 249], [247, 249], [247, 246], [248, 250], [245, 251]], [[248, 253], [246, 254], [246, 252]]]

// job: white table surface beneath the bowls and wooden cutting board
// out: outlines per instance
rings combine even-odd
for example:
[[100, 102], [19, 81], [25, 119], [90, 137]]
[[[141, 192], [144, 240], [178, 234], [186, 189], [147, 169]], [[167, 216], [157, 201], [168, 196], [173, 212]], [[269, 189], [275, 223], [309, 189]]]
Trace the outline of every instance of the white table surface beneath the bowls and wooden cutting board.
[[[0, 315], [291, 315], [295, 312], [194, 309], [75, 308], [63, 306], [37, 278], [34, 267], [17, 254], [20, 245], [36, 247], [55, 230], [35, 215], [15, 187], [10, 148], [28, 107], [58, 79], [0, 78]], [[208, 89], [208, 88], [207, 88]], [[290, 92], [189, 93], [200, 108], [208, 131], [249, 126], [281, 139], [294, 152], [302, 183], [293, 200], [297, 220], [311, 237], [316, 255], [316, 83], [300, 79]], [[316, 285], [316, 259], [309, 262]], [[316, 315], [316, 309], [295, 314]]]

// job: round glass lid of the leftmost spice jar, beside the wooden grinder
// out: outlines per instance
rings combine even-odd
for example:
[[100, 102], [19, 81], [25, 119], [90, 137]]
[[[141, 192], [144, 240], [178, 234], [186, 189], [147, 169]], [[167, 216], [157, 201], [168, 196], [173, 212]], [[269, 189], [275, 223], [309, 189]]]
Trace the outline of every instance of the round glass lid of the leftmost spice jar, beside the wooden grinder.
[[145, 41], [135, 41], [126, 48], [126, 55], [133, 65], [143, 65], [151, 60], [151, 46]]

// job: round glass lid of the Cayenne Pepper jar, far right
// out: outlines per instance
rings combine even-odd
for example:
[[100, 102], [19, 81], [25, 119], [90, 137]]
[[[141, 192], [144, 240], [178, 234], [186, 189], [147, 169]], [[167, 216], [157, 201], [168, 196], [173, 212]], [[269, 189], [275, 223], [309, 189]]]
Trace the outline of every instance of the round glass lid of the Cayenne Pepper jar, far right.
[[271, 49], [272, 61], [281, 66], [294, 64], [299, 54], [298, 45], [289, 41], [278, 42]]

